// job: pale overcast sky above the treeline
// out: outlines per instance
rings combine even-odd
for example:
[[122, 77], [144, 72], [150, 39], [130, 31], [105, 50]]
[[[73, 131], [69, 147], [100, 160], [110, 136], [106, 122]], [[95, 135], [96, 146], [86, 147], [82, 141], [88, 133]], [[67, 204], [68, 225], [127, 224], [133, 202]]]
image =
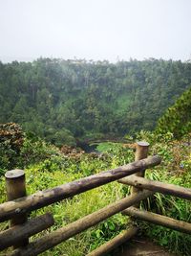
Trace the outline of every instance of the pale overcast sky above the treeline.
[[0, 59], [191, 59], [191, 0], [0, 0]]

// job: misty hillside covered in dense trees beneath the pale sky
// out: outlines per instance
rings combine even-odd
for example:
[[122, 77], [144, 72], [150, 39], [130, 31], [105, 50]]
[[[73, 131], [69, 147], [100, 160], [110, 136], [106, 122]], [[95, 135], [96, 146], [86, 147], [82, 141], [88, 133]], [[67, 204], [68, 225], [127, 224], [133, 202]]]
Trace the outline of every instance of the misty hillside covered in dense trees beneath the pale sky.
[[0, 62], [0, 123], [56, 145], [153, 129], [191, 86], [191, 63], [63, 60]]

